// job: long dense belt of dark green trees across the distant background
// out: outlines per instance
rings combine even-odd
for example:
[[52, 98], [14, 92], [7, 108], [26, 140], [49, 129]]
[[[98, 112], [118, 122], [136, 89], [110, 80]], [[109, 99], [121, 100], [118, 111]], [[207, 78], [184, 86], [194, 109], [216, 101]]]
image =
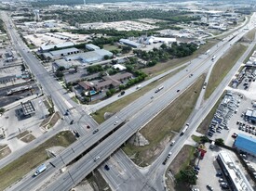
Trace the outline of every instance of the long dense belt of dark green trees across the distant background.
[[179, 10], [162, 10], [162, 9], [146, 9], [146, 10], [54, 10], [46, 11], [46, 14], [58, 14], [59, 19], [68, 22], [71, 25], [76, 23], [90, 23], [90, 22], [111, 22], [121, 20], [133, 19], [161, 19], [168, 20], [169, 23], [174, 24], [178, 22], [189, 22], [197, 17], [188, 16], [187, 12]]

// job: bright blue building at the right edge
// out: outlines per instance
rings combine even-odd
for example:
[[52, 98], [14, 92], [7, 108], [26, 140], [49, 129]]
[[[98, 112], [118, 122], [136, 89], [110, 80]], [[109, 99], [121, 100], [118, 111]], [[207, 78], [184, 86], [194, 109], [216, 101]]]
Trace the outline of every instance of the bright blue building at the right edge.
[[256, 157], [256, 139], [245, 134], [238, 134], [234, 146], [237, 150], [249, 153]]

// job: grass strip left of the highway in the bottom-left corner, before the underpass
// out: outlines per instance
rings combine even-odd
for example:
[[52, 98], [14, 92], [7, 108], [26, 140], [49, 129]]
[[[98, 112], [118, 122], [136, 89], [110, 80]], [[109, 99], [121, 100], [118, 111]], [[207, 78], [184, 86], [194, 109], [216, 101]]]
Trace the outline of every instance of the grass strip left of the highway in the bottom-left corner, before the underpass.
[[0, 190], [19, 181], [22, 176], [34, 170], [35, 167], [48, 159], [46, 149], [52, 146], [69, 146], [75, 137], [69, 131], [61, 132], [48, 139], [45, 143], [22, 155], [0, 170]]

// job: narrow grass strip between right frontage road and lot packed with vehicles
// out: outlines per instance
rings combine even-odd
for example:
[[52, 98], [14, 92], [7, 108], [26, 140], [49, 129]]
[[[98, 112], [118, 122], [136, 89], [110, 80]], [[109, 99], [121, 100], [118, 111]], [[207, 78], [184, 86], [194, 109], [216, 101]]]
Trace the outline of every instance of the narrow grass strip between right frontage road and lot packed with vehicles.
[[197, 128], [196, 132], [200, 134], [206, 134], [209, 129], [210, 121], [213, 119], [216, 109], [219, 107], [219, 105], [222, 102], [222, 99], [225, 95], [225, 92], [222, 94], [222, 96], [219, 98], [219, 100], [216, 102], [213, 108], [209, 111], [209, 114], [207, 117], [200, 123], [199, 127]]

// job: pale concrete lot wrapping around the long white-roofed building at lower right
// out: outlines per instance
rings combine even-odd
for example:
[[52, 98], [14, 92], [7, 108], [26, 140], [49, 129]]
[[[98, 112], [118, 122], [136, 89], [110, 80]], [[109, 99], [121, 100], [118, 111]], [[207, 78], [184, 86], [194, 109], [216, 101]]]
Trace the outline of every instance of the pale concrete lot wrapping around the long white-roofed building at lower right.
[[199, 161], [198, 166], [200, 168], [200, 171], [198, 172], [197, 185], [194, 186], [195, 188], [199, 188], [200, 191], [205, 191], [208, 190], [207, 185], [210, 185], [214, 191], [223, 190], [221, 187], [221, 182], [222, 184], [224, 184], [227, 181], [225, 180], [225, 177], [223, 175], [217, 175], [218, 172], [222, 172], [216, 160], [220, 151], [228, 152], [229, 156], [236, 163], [236, 166], [238, 166], [242, 170], [242, 172], [245, 173], [246, 177], [248, 177], [246, 170], [239, 162], [239, 159], [237, 159], [235, 153], [219, 146], [215, 146], [213, 149], [209, 148], [209, 144], [206, 144], [206, 146], [208, 148], [207, 153], [204, 159], [201, 159]]

